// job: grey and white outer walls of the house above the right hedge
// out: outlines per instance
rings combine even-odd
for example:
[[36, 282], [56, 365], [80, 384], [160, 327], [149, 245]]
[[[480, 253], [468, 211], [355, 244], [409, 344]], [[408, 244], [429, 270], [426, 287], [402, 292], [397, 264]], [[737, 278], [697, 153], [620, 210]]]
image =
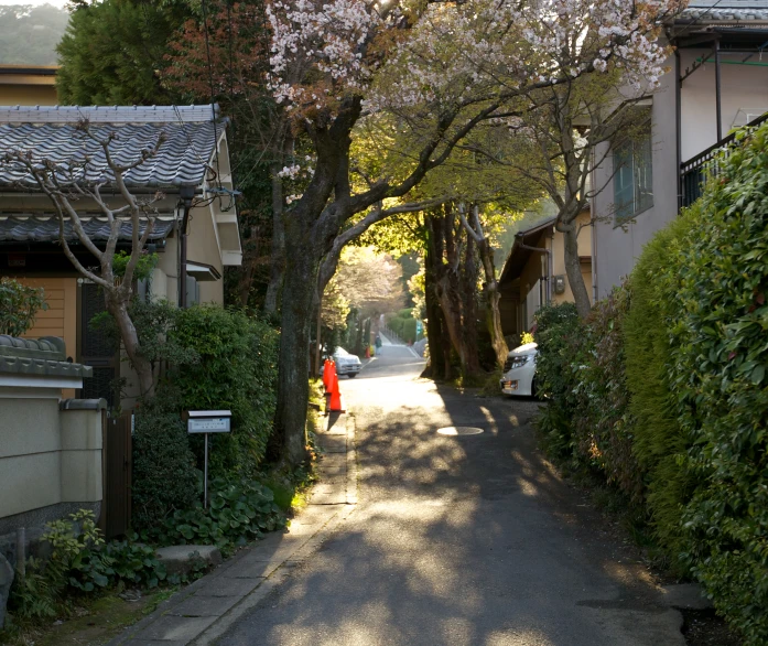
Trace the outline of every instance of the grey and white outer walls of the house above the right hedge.
[[[681, 69], [690, 67], [707, 50], [681, 52]], [[724, 60], [735, 60], [724, 55]], [[614, 211], [613, 158], [595, 173], [594, 185], [607, 185], [593, 204], [598, 218], [595, 223], [593, 266], [595, 291], [605, 298], [614, 286], [632, 270], [642, 247], [656, 232], [663, 228], [678, 214], [678, 153], [674, 96], [674, 58], [667, 63], [670, 72], [661, 79], [661, 88], [652, 97], [651, 142], [653, 164], [653, 206], [638, 214], [632, 222], [617, 226], [610, 214]], [[706, 64], [694, 72], [681, 89], [681, 162], [716, 143], [715, 71]], [[742, 108], [753, 111], [768, 110], [768, 68], [756, 66], [722, 65], [723, 136], [725, 136]], [[607, 144], [601, 147], [602, 155]]]

